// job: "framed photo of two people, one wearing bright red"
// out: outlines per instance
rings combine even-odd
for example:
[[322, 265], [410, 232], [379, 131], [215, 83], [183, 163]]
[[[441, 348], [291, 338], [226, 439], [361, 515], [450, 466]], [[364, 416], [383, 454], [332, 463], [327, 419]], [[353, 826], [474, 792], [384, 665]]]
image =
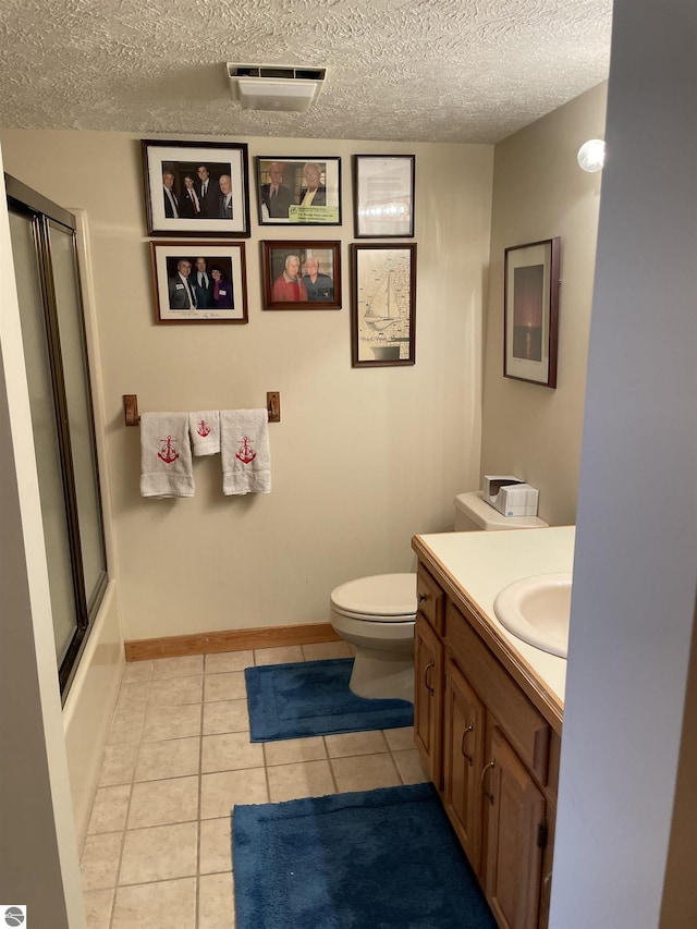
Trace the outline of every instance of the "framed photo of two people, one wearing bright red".
[[265, 309], [340, 309], [340, 242], [262, 242]]

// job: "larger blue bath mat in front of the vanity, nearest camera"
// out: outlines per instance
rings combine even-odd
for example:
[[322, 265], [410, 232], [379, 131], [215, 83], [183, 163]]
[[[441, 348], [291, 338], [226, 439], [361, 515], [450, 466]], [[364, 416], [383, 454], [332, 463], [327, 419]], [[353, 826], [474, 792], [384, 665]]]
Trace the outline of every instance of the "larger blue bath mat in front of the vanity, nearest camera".
[[237, 929], [496, 929], [432, 784], [232, 811]]

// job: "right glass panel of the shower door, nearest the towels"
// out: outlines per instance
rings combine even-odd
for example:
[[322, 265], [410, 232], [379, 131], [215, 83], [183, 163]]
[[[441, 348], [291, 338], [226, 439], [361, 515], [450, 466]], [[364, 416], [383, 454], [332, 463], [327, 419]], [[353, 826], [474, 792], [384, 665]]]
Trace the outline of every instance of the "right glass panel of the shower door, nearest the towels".
[[50, 221], [49, 241], [75, 475], [85, 599], [89, 608], [96, 594], [106, 582], [107, 559], [99, 501], [99, 477], [95, 456], [80, 279], [72, 229]]

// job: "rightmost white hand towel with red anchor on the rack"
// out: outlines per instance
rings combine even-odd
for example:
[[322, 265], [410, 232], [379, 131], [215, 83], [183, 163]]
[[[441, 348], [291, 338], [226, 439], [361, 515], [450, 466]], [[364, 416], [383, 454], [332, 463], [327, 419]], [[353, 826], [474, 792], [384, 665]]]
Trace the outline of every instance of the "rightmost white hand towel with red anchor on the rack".
[[266, 410], [220, 411], [222, 492], [271, 492], [269, 414]]

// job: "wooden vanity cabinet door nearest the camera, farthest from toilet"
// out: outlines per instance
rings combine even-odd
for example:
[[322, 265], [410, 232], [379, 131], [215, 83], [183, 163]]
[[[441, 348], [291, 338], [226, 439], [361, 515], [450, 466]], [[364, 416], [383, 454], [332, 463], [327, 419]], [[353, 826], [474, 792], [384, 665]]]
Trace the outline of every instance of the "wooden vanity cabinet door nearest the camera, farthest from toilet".
[[537, 929], [547, 824], [545, 796], [498, 726], [481, 772], [485, 891], [502, 929]]

